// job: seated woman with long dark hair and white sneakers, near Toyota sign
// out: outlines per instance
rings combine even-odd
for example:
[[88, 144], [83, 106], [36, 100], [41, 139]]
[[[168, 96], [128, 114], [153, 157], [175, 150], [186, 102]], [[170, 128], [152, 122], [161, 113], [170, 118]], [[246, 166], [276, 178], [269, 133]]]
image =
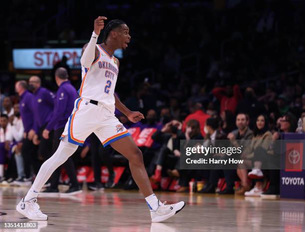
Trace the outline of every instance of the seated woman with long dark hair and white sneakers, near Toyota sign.
[[268, 118], [266, 115], [261, 114], [257, 117], [253, 135], [254, 137], [249, 149], [250, 153], [244, 154], [242, 157], [243, 159], [251, 159], [254, 164], [248, 176], [255, 180], [255, 186], [250, 191], [245, 192], [245, 196], [261, 196], [263, 193], [264, 174], [261, 168], [262, 165], [267, 165], [267, 152], [272, 141], [272, 134], [268, 129]]

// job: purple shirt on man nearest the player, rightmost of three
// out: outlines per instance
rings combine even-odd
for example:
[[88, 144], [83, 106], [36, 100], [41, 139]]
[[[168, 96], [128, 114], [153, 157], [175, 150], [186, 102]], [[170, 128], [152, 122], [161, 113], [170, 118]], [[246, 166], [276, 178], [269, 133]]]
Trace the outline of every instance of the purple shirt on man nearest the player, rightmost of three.
[[79, 95], [69, 80], [60, 84], [55, 97], [53, 115], [46, 126], [48, 131], [65, 127], [77, 98]]

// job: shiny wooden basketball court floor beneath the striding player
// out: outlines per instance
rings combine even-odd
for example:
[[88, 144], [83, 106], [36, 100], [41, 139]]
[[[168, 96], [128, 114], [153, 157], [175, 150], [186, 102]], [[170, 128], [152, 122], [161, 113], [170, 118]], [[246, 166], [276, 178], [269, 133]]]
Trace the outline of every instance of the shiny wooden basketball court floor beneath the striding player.
[[[0, 224], [31, 222], [15, 211], [24, 187], [0, 187]], [[148, 206], [138, 191], [84, 191], [69, 198], [38, 198], [48, 221], [40, 232], [302, 232], [305, 201], [262, 200], [237, 196], [156, 192], [171, 204], [185, 201], [184, 209], [164, 223], [151, 223]]]

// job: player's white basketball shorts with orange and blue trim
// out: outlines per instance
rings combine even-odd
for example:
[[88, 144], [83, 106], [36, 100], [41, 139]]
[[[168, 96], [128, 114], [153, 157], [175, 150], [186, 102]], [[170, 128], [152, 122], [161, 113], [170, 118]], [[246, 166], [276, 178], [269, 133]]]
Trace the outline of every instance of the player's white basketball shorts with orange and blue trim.
[[96, 134], [104, 147], [130, 136], [127, 129], [107, 107], [78, 98], [75, 100], [74, 109], [60, 139], [68, 136], [70, 143], [83, 146], [91, 133]]

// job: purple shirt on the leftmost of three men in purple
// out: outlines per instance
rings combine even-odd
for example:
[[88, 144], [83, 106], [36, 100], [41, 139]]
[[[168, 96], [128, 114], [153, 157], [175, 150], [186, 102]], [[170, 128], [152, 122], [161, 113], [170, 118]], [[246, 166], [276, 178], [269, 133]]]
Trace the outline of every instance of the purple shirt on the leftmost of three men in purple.
[[20, 96], [20, 115], [25, 133], [29, 132], [31, 129], [36, 131], [32, 106], [33, 98], [33, 94], [27, 90]]

